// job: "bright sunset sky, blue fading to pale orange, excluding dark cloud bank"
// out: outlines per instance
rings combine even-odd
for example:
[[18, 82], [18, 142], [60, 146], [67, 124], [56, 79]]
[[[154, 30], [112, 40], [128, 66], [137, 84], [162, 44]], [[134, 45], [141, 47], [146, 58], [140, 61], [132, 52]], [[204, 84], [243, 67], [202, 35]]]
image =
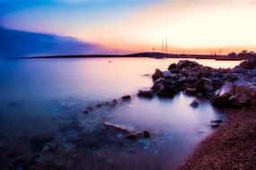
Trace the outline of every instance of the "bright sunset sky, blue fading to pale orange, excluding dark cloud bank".
[[113, 51], [256, 51], [256, 0], [0, 0], [0, 25]]

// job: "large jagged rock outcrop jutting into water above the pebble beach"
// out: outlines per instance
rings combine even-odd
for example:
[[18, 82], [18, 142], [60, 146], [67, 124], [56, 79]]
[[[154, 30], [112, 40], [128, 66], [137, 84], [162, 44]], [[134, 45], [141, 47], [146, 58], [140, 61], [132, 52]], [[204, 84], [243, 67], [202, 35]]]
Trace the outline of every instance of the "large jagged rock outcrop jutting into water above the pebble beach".
[[171, 64], [167, 71], [156, 69], [154, 85], [140, 96], [172, 97], [180, 91], [202, 95], [216, 106], [249, 106], [256, 104], [256, 59], [247, 60], [233, 69], [214, 69], [193, 61]]

